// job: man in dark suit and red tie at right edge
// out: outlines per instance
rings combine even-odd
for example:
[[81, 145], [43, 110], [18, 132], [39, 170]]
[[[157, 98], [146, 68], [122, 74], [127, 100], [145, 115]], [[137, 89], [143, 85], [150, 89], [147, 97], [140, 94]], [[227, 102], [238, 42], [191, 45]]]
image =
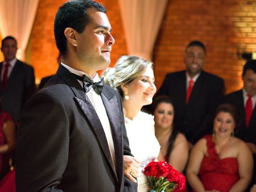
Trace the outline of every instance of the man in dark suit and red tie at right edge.
[[242, 80], [244, 87], [225, 96], [225, 102], [238, 109], [241, 124], [235, 136], [246, 142], [254, 154], [254, 179], [256, 175], [256, 60], [246, 62]]

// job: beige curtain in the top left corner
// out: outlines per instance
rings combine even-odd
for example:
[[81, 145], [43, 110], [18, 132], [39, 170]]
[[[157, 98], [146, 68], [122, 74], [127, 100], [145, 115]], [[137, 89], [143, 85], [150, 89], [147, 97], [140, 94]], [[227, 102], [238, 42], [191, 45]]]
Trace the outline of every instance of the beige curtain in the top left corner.
[[0, 0], [0, 33], [18, 41], [17, 58], [25, 60], [25, 50], [39, 0]]

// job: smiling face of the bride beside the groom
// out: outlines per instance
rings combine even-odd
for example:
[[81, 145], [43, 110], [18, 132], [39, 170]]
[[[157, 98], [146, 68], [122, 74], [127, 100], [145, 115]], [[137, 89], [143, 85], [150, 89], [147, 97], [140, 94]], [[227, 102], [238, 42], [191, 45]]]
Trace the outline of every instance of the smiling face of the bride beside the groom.
[[127, 85], [129, 101], [134, 105], [144, 106], [152, 103], [156, 93], [155, 77], [152, 68], [148, 67], [144, 72]]

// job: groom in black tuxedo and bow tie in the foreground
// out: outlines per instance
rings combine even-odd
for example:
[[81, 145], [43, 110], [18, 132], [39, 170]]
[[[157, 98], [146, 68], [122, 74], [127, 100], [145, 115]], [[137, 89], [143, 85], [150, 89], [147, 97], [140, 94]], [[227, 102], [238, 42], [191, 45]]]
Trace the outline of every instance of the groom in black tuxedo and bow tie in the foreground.
[[123, 155], [131, 154], [120, 95], [96, 73], [110, 64], [111, 30], [106, 9], [92, 0], [58, 9], [62, 63], [22, 112], [17, 192], [136, 191], [124, 177]]

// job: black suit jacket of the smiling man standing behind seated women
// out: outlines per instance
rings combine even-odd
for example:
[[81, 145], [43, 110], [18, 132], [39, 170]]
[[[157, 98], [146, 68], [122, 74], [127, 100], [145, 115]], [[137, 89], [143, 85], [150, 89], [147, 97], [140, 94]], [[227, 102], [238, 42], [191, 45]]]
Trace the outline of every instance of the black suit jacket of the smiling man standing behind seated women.
[[174, 124], [196, 143], [202, 136], [212, 132], [212, 120], [216, 106], [223, 100], [222, 78], [202, 71], [186, 104], [185, 71], [169, 73], [157, 95], [168, 95], [174, 102]]

